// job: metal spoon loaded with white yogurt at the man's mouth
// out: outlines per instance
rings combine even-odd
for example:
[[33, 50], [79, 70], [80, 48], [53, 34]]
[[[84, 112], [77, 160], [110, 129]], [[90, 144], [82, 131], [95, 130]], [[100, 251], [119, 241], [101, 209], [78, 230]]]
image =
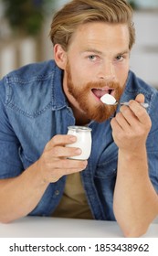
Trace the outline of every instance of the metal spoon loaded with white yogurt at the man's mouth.
[[[108, 94], [108, 93], [104, 94], [100, 98], [100, 101], [102, 101], [104, 104], [111, 105], [111, 106], [119, 104], [119, 102], [116, 101], [116, 99], [111, 94]], [[120, 104], [125, 105], [125, 106], [129, 106], [129, 102], [121, 102]], [[148, 106], [149, 106], [148, 103], [143, 103], [143, 102], [141, 102], [140, 105], [142, 105], [142, 107], [145, 108], [145, 109], [148, 108]]]

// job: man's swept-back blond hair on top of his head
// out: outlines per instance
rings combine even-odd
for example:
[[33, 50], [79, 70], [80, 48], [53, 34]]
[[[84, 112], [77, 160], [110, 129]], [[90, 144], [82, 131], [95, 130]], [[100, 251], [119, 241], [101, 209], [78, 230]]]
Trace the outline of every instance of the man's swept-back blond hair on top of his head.
[[135, 29], [132, 22], [132, 7], [125, 0], [72, 0], [53, 17], [49, 33], [53, 45], [60, 44], [68, 49], [77, 28], [85, 23], [106, 22], [127, 24], [132, 48]]

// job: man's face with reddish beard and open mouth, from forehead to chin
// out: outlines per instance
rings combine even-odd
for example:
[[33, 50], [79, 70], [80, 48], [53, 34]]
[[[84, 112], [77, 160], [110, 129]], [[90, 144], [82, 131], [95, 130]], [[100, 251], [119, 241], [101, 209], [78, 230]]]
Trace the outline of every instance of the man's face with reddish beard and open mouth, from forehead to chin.
[[64, 91], [71, 105], [88, 119], [103, 122], [116, 106], [100, 97], [110, 93], [117, 101], [129, 71], [129, 31], [125, 25], [90, 23], [78, 28], [68, 48]]

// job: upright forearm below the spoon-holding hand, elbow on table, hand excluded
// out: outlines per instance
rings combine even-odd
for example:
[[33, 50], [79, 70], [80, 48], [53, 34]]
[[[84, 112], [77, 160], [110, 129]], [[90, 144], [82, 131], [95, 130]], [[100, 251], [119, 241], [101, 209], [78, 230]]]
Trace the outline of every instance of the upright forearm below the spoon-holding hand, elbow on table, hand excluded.
[[119, 150], [114, 213], [125, 236], [141, 236], [158, 214], [158, 197], [148, 176], [146, 149]]

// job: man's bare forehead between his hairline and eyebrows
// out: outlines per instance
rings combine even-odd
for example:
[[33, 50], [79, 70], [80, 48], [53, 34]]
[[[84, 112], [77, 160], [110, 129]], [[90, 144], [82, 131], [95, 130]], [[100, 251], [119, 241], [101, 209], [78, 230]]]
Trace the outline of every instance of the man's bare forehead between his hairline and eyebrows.
[[69, 48], [96, 48], [109, 50], [128, 49], [130, 42], [129, 29], [126, 24], [109, 24], [93, 22], [80, 25], [74, 33]]

